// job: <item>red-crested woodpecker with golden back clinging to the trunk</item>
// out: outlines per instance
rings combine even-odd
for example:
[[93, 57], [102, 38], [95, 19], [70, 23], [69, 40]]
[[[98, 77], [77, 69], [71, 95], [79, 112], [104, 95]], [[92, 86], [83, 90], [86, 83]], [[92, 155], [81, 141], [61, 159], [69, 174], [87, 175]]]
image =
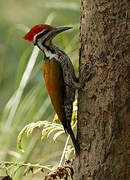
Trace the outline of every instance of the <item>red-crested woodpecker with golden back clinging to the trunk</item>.
[[81, 88], [81, 84], [75, 76], [68, 55], [52, 43], [57, 34], [71, 28], [38, 24], [24, 36], [24, 39], [38, 46], [44, 53], [43, 75], [46, 88], [65, 132], [70, 135], [75, 151], [79, 153], [79, 145], [71, 128], [71, 118], [75, 91]]

